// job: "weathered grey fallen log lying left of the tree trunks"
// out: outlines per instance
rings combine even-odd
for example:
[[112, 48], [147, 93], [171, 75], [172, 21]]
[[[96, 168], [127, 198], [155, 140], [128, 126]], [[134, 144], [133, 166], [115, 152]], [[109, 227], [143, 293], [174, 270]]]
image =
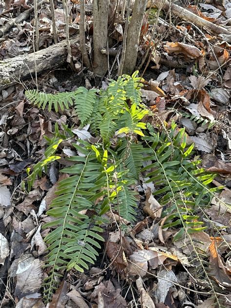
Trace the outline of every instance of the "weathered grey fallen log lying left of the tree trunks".
[[[79, 36], [71, 43], [79, 42]], [[0, 61], [0, 90], [6, 89], [22, 80], [34, 77], [46, 70], [54, 70], [66, 62], [66, 40], [32, 54]]]

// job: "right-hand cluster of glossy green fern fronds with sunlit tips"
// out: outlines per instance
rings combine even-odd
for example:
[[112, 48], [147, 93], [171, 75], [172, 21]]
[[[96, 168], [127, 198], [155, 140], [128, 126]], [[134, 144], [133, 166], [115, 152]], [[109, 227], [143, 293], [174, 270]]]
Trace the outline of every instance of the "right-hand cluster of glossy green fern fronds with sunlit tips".
[[[151, 164], [145, 166], [141, 172], [149, 177], [147, 183], [154, 182], [157, 189], [153, 194], [162, 206], [166, 206], [162, 216], [168, 218], [163, 228], [181, 225], [189, 233], [201, 231], [206, 227], [201, 227], [203, 222], [197, 221], [198, 216], [195, 213], [198, 206], [207, 207], [211, 203], [214, 189], [207, 188], [207, 185], [215, 175], [199, 168], [200, 161], [189, 160], [193, 145], [186, 148], [187, 136], [184, 129], [180, 129], [175, 135], [175, 128], [176, 125], [173, 124], [169, 134], [162, 132], [159, 136], [149, 125], [150, 135], [144, 137], [148, 146], [144, 161], [151, 161]], [[175, 240], [181, 234], [183, 233], [178, 233]]]

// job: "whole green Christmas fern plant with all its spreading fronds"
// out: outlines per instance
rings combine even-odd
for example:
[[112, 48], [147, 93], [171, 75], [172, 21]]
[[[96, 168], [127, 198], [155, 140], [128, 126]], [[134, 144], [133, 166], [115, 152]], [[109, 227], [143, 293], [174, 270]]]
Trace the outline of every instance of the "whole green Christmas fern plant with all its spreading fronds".
[[[201, 231], [198, 210], [209, 206], [215, 189], [208, 187], [214, 175], [199, 167], [192, 159], [193, 145], [187, 145], [184, 129], [158, 133], [149, 124], [153, 114], [141, 103], [140, 78], [135, 72], [110, 80], [100, 91], [83, 87], [71, 93], [44, 94], [36, 90], [26, 97], [38, 107], [48, 110], [74, 106], [81, 125], [90, 124], [97, 144], [75, 140], [67, 126], [63, 133], [55, 125], [55, 137], [45, 152], [45, 158], [35, 165], [28, 177], [33, 186], [37, 175], [49, 161], [58, 159], [55, 152], [62, 139], [72, 138], [79, 155], [68, 159], [72, 165], [61, 170], [68, 177], [61, 180], [47, 214], [53, 220], [43, 228], [49, 253], [44, 282], [47, 302], [58, 288], [65, 270], [82, 272], [94, 264], [104, 241], [100, 233], [108, 211], [131, 223], [136, 220], [138, 193], [134, 190], [139, 178], [154, 183], [154, 197], [163, 207], [163, 228], [180, 228], [174, 239], [184, 231]], [[145, 117], [149, 119], [144, 120]], [[148, 124], [146, 124], [148, 122]]]

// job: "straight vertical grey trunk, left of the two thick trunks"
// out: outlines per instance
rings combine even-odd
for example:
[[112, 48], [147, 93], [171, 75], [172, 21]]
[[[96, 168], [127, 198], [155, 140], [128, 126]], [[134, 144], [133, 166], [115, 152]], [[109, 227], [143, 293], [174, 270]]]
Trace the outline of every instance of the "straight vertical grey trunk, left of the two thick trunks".
[[108, 69], [107, 55], [101, 53], [107, 47], [109, 0], [94, 0], [93, 41], [94, 73], [103, 76]]

